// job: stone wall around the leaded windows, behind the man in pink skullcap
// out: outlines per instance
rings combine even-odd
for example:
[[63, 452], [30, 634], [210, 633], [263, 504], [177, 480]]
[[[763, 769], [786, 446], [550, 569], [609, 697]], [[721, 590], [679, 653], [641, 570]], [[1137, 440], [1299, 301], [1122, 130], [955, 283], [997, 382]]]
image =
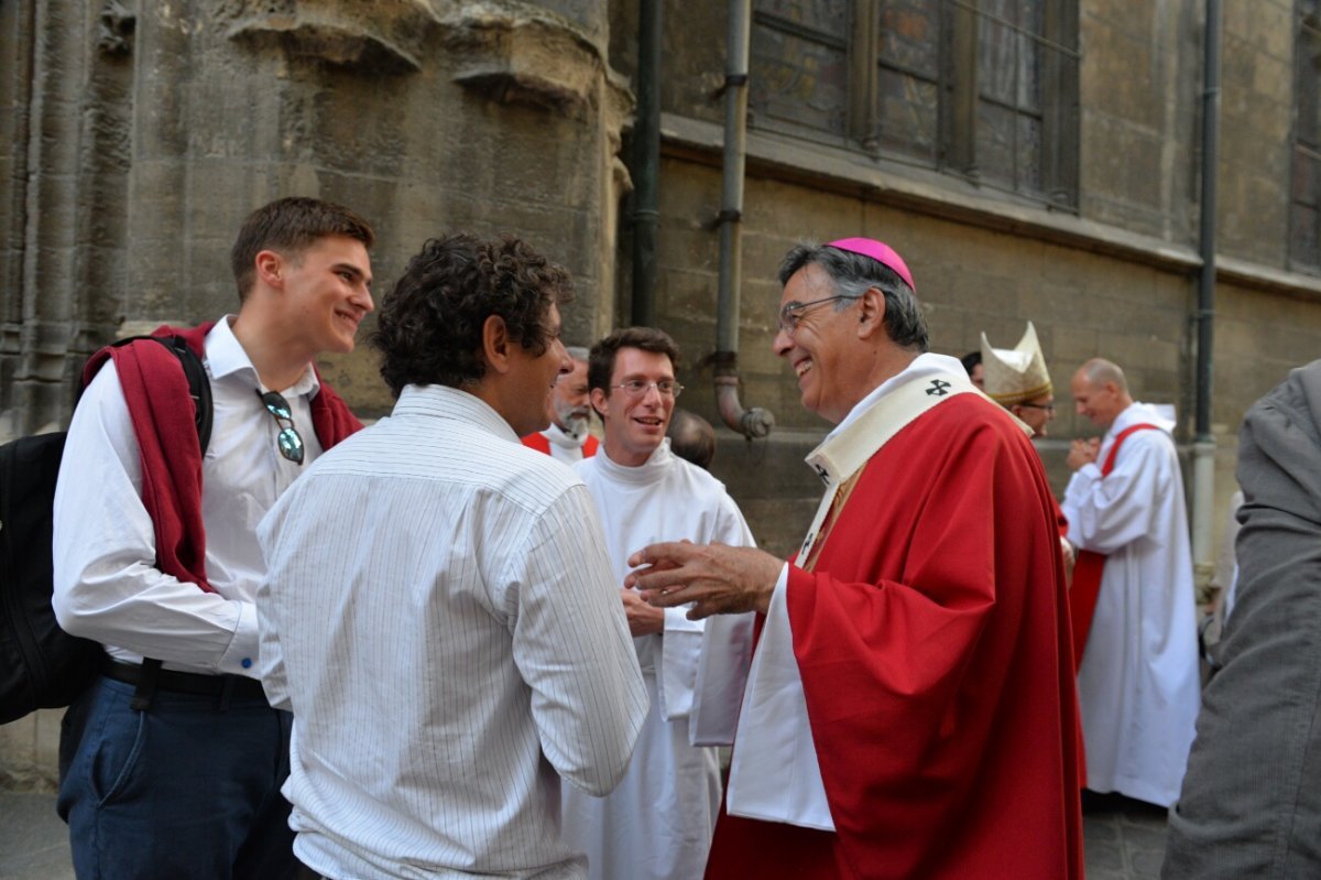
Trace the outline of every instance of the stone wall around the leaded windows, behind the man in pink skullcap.
[[[724, 11], [686, 8], [664, 29], [659, 322], [684, 348], [684, 404], [716, 420], [704, 358], [715, 349]], [[1251, 7], [1251, 8], [1250, 8]], [[634, 4], [616, 1], [612, 65], [631, 74]], [[727, 435], [715, 472], [777, 551], [797, 546], [818, 486], [801, 458], [826, 425], [798, 404], [770, 354], [779, 258], [801, 238], [873, 235], [913, 268], [933, 348], [962, 354], [984, 330], [1013, 345], [1032, 320], [1055, 381], [1059, 416], [1040, 443], [1057, 490], [1067, 437], [1095, 433], [1073, 415], [1069, 379], [1094, 355], [1125, 367], [1139, 399], [1173, 403], [1178, 440], [1196, 406], [1199, 155], [1205, 4], [1081, 0], [1081, 194], [1074, 214], [1025, 205], [934, 170], [761, 129], [748, 140], [740, 366], [744, 404], [779, 428], [750, 444]], [[1285, 254], [1292, 114], [1292, 4], [1226, 4], [1213, 351], [1214, 532], [1234, 492], [1243, 412], [1292, 366], [1317, 357], [1321, 279]], [[621, 233], [627, 239], [627, 229]], [[622, 258], [621, 258], [622, 259]], [[627, 312], [627, 275], [617, 276]], [[732, 461], [736, 458], [737, 461]], [[765, 462], [753, 465], [749, 462]], [[1189, 494], [1192, 484], [1189, 481]], [[775, 513], [768, 509], [774, 495]], [[1197, 499], [1190, 497], [1190, 503]]]

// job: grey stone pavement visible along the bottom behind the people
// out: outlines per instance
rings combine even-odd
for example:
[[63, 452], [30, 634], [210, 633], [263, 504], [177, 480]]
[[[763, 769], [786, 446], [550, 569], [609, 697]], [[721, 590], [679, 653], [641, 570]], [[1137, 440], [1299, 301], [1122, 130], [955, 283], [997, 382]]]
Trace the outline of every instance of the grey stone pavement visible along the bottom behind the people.
[[[73, 880], [69, 836], [54, 794], [0, 791], [0, 880]], [[1087, 880], [1160, 877], [1165, 810], [1127, 798], [1089, 798]]]

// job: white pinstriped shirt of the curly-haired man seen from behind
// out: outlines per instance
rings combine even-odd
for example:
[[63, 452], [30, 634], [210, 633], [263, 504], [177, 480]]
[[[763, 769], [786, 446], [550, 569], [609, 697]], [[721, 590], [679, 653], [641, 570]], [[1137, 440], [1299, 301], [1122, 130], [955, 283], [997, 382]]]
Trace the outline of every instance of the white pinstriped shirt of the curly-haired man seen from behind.
[[262, 678], [295, 852], [330, 877], [583, 877], [646, 688], [592, 498], [486, 403], [408, 386], [262, 523]]

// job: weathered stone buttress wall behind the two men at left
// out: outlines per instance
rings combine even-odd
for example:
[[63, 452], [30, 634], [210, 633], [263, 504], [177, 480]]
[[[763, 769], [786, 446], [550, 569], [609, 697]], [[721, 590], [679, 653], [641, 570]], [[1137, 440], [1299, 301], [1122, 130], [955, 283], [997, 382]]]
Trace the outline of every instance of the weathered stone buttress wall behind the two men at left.
[[[234, 234], [285, 194], [375, 225], [378, 296], [428, 237], [510, 231], [573, 271], [571, 341], [613, 321], [631, 96], [600, 3], [50, 0], [0, 32], [0, 408], [22, 429], [67, 418], [114, 336], [232, 311]], [[369, 353], [326, 366], [388, 408]]]

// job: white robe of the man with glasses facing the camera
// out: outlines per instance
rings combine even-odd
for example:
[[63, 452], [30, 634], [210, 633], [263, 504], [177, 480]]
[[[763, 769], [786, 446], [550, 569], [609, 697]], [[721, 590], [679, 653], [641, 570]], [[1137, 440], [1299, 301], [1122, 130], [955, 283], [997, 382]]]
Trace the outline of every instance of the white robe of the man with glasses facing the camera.
[[[672, 455], [668, 440], [639, 468], [610, 461], [602, 447], [575, 469], [601, 514], [621, 587], [630, 571], [627, 558], [651, 543], [753, 546], [748, 523], [720, 481]], [[696, 880], [705, 867], [720, 809], [720, 764], [715, 748], [690, 744], [690, 715], [715, 692], [737, 707], [748, 657], [728, 665], [717, 659], [728, 641], [704, 650], [704, 621], [690, 621], [686, 613], [667, 608], [663, 634], [634, 638], [651, 710], [624, 781], [604, 798], [561, 786], [564, 839], [587, 852], [593, 880]], [[752, 616], [740, 618], [750, 630]], [[734, 654], [749, 649], [746, 633], [732, 638]], [[723, 708], [731, 716], [736, 711]]]

